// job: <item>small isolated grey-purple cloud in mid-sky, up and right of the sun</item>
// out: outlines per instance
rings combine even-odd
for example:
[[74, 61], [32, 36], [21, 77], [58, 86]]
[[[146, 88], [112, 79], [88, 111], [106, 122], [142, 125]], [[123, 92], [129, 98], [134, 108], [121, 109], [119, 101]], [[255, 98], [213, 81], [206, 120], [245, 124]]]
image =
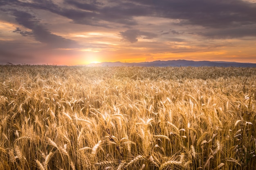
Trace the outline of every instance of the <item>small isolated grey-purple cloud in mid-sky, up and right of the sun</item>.
[[138, 41], [137, 38], [142, 37], [142, 39], [153, 39], [157, 37], [157, 34], [155, 33], [150, 33], [150, 32], [144, 32], [144, 31], [139, 31], [136, 29], [130, 29], [126, 30], [125, 32], [120, 32], [121, 37], [123, 39], [126, 39], [130, 43], [135, 43]]

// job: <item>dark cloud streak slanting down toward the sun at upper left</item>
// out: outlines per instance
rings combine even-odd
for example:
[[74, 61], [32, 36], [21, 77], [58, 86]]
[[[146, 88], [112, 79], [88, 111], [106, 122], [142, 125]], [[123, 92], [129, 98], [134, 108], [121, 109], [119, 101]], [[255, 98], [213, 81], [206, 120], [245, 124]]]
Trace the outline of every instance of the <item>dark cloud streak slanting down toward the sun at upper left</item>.
[[[36, 19], [36, 17], [31, 15], [30, 13], [13, 10], [13, 15], [16, 17], [16, 21], [19, 24], [32, 30], [33, 36], [37, 41], [47, 44], [50, 48], [79, 47], [76, 41], [52, 34], [40, 23], [40, 20]], [[21, 33], [17, 29], [16, 32]]]

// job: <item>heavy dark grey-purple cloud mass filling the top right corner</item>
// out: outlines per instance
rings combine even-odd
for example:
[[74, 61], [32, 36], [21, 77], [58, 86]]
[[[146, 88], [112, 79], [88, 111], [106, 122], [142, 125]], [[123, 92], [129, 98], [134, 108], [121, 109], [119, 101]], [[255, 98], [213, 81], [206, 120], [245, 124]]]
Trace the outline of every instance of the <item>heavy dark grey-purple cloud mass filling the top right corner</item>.
[[140, 0], [139, 3], [148, 4], [156, 17], [179, 19], [176, 24], [181, 26], [230, 28], [256, 23], [256, 3], [241, 0]]

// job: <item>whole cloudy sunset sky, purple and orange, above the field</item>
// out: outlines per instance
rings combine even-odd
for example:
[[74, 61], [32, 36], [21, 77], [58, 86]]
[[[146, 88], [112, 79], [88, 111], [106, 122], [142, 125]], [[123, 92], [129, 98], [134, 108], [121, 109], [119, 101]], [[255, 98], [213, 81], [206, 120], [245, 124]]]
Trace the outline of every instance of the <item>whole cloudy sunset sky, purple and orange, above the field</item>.
[[256, 0], [0, 0], [0, 64], [256, 63]]

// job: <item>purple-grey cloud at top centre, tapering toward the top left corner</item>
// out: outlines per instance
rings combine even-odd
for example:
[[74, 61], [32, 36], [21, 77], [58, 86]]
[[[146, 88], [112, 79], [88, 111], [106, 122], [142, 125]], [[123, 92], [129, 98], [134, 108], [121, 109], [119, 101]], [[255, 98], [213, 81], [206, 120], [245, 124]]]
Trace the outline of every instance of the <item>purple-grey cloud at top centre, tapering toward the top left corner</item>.
[[22, 7], [43, 9], [67, 17], [76, 24], [105, 28], [112, 28], [112, 24], [110, 23], [124, 24], [126, 26], [137, 25], [133, 17], [149, 15], [151, 12], [144, 4], [140, 5], [127, 1], [112, 3], [112, 0], [64, 0], [63, 3], [40, 0], [30, 2], [13, 0], [12, 2], [6, 2], [6, 4], [18, 4]]

